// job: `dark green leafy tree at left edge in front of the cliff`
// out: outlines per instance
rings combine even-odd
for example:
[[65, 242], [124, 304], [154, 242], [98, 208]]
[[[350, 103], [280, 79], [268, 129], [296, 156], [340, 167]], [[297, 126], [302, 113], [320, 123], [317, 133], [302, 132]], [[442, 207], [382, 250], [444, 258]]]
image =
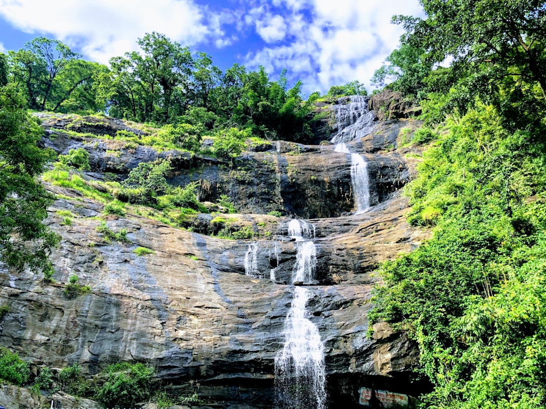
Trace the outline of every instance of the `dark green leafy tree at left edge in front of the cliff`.
[[35, 179], [50, 157], [36, 145], [42, 133], [15, 86], [0, 88], [0, 260], [49, 278], [48, 255], [58, 237], [41, 222], [53, 199]]

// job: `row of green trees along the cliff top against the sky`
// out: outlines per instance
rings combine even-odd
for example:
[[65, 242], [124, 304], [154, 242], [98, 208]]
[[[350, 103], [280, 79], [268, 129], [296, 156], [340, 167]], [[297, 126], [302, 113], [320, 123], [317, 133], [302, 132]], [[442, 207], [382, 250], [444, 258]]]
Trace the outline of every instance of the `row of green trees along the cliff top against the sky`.
[[[33, 110], [108, 112], [112, 117], [169, 125], [165, 135], [184, 149], [199, 147], [205, 134], [238, 128], [268, 139], [311, 136], [313, 93], [301, 97], [301, 82], [288, 88], [286, 70], [277, 81], [263, 67], [234, 64], [222, 72], [206, 53], [192, 52], [156, 32], [138, 40], [139, 52], [110, 59], [110, 68], [81, 59], [58, 40], [29, 41], [2, 59], [5, 82], [13, 84]], [[329, 95], [366, 94], [352, 81]], [[223, 139], [220, 139], [222, 141]], [[222, 146], [227, 154], [237, 148]], [[239, 150], [240, 152], [240, 150]]]

